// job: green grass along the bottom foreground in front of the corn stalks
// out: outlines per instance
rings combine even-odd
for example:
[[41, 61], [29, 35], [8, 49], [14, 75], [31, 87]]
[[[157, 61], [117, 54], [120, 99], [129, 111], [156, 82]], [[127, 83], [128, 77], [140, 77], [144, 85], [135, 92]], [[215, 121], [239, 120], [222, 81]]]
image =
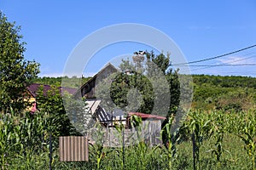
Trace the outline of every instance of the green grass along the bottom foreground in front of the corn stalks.
[[[203, 141], [200, 149], [199, 169], [253, 169], [243, 149], [243, 142], [237, 136], [226, 133], [223, 147], [225, 150], [220, 162], [208, 150], [212, 147], [212, 139]], [[110, 150], [110, 149], [109, 149]], [[108, 151], [109, 151], [108, 150]], [[125, 148], [125, 166], [122, 167], [122, 153], [114, 149], [102, 158], [99, 169], [169, 169], [163, 149], [148, 146], [145, 154], [154, 150], [152, 155], [143, 157], [139, 146]], [[91, 153], [89, 162], [56, 161], [55, 169], [97, 169], [96, 157]], [[106, 150], [107, 151], [107, 150]], [[172, 161], [172, 169], [193, 169], [192, 142], [190, 140], [177, 144], [177, 157]]]

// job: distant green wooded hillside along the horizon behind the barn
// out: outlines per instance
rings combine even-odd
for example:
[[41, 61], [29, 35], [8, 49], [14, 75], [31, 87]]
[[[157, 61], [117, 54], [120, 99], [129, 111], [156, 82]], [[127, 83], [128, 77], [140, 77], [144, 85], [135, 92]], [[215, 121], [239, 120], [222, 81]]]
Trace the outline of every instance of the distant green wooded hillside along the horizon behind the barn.
[[[236, 110], [247, 111], [256, 107], [256, 77], [222, 77], [192, 75], [194, 95], [192, 108], [205, 111]], [[79, 88], [90, 77], [38, 77], [32, 82]]]

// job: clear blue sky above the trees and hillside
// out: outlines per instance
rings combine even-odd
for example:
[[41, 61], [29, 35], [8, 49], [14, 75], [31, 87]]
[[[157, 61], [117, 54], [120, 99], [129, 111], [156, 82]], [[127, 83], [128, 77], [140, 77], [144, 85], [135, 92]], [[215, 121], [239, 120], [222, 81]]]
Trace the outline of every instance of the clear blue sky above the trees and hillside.
[[[26, 59], [35, 59], [40, 76], [61, 76], [73, 48], [93, 31], [137, 23], [165, 32], [187, 61], [206, 59], [256, 44], [256, 1], [18, 1], [1, 0], [9, 21], [21, 26]], [[102, 37], [103, 38], [103, 37]], [[149, 47], [119, 43], [96, 54], [84, 75], [92, 75], [115, 56]], [[172, 54], [172, 52], [171, 52]], [[171, 56], [175, 57], [175, 56]], [[256, 63], [256, 48], [198, 65]], [[254, 66], [193, 67], [193, 74], [255, 77]]]

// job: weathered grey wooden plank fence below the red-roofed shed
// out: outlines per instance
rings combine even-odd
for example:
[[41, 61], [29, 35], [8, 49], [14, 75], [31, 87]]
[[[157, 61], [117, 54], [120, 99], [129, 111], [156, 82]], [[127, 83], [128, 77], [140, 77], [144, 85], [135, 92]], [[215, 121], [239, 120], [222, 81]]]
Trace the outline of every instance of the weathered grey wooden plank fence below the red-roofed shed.
[[93, 127], [88, 133], [88, 139], [91, 144], [95, 144], [100, 139], [103, 146], [113, 147], [121, 147], [124, 143], [126, 146], [137, 144], [142, 140], [148, 144], [162, 144], [160, 139], [161, 123], [160, 120], [146, 120], [140, 125], [141, 128], [125, 128], [124, 133], [112, 126]]

